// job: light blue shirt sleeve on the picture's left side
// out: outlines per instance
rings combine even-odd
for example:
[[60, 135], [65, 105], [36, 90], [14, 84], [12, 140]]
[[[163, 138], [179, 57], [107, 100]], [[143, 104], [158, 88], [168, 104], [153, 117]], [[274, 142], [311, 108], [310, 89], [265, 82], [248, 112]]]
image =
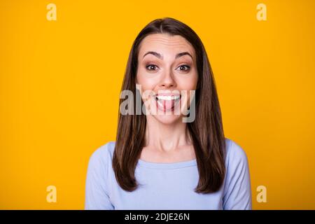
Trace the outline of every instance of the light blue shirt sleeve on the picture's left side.
[[85, 210], [113, 210], [106, 185], [108, 175], [108, 149], [105, 146], [97, 149], [87, 167], [85, 182]]

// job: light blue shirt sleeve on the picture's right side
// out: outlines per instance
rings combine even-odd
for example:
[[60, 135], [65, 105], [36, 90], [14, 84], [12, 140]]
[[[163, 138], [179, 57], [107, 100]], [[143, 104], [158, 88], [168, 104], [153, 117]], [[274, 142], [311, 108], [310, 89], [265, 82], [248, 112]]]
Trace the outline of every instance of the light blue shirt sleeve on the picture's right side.
[[251, 210], [251, 179], [244, 150], [231, 140], [223, 196], [224, 210]]

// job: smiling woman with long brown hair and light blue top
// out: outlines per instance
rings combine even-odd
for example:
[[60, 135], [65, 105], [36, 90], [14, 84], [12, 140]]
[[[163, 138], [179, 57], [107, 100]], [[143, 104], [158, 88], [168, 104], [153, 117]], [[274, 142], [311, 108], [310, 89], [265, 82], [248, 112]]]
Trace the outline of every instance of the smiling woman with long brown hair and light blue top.
[[224, 136], [214, 75], [193, 29], [173, 18], [146, 25], [123, 92], [132, 96], [127, 106], [120, 97], [116, 141], [90, 158], [85, 209], [251, 209], [246, 153]]

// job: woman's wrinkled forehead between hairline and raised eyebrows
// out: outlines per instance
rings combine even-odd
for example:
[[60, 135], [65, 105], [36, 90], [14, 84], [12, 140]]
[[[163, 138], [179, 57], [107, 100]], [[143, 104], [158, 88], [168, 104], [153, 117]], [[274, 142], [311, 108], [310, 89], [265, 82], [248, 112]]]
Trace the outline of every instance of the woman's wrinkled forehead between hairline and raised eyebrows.
[[179, 52], [187, 51], [195, 58], [193, 45], [180, 35], [150, 34], [141, 41], [139, 57], [143, 56], [147, 51], [159, 52], [162, 55], [176, 55]]

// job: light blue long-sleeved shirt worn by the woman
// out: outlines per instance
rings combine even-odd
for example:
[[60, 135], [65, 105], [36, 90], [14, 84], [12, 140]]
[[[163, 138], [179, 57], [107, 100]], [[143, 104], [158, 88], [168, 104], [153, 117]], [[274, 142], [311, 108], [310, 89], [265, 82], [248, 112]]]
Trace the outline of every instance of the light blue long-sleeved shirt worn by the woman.
[[251, 181], [244, 150], [225, 139], [227, 172], [216, 193], [195, 193], [199, 174], [197, 160], [155, 163], [138, 160], [137, 190], [118, 185], [111, 166], [115, 142], [92, 153], [85, 183], [85, 209], [251, 209]]

